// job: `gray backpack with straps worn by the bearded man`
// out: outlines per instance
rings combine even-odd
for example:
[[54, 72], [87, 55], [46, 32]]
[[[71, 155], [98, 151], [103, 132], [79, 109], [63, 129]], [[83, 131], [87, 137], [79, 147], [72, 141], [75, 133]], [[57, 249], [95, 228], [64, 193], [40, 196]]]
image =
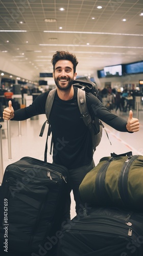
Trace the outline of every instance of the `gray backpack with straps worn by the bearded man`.
[[[104, 125], [102, 124], [101, 120], [99, 120], [97, 117], [94, 117], [93, 119], [91, 119], [91, 116], [88, 112], [87, 105], [86, 105], [85, 92], [91, 92], [94, 96], [98, 97], [98, 89], [96, 84], [91, 82], [86, 77], [74, 80], [73, 86], [78, 88], [77, 98], [78, 98], [79, 110], [81, 113], [81, 118], [83, 119], [85, 125], [88, 126], [90, 130], [91, 137], [92, 137], [92, 148], [94, 152], [96, 151], [96, 147], [99, 145], [101, 141], [102, 127], [104, 127]], [[52, 132], [51, 125], [49, 122], [49, 117], [50, 117], [56, 90], [57, 89], [51, 90], [47, 96], [46, 103], [45, 103], [45, 114], [46, 114], [47, 120], [44, 122], [39, 135], [42, 137], [45, 124], [49, 123], [49, 130], [47, 132], [47, 138], [46, 138], [46, 144], [45, 144], [44, 161], [46, 161], [46, 155], [47, 155], [47, 139]], [[52, 154], [52, 146], [53, 146], [53, 139], [51, 140], [50, 154]]]

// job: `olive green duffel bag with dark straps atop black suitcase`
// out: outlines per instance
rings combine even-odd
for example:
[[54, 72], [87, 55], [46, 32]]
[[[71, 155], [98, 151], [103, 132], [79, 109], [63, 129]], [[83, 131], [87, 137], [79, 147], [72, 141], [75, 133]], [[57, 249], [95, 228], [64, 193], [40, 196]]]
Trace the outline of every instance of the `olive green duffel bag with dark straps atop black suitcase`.
[[128, 152], [103, 157], [79, 187], [83, 202], [143, 210], [143, 156]]

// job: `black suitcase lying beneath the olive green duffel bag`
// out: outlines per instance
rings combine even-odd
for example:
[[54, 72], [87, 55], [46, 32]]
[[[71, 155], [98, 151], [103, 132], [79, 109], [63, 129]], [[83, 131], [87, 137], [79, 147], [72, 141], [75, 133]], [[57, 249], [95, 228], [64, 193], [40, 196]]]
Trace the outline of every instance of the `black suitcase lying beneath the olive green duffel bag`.
[[142, 256], [143, 214], [116, 208], [81, 211], [65, 223], [58, 256]]

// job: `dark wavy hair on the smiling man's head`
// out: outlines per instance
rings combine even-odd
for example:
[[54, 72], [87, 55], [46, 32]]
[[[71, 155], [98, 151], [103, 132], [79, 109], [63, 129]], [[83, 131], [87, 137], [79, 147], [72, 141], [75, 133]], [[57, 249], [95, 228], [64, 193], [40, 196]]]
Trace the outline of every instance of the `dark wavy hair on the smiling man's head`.
[[73, 53], [65, 52], [65, 51], [57, 51], [51, 60], [51, 63], [53, 64], [53, 70], [55, 71], [55, 65], [58, 60], [61, 59], [67, 59], [73, 63], [74, 66], [74, 74], [76, 73], [76, 67], [78, 65], [78, 60], [76, 58], [76, 55]]

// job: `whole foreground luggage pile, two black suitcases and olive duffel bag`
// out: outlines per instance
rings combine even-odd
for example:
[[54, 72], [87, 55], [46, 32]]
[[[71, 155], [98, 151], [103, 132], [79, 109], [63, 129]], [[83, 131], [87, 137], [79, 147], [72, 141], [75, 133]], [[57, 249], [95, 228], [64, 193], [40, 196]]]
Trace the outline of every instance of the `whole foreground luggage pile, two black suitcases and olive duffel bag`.
[[0, 186], [1, 256], [142, 256], [143, 156], [104, 157], [83, 179], [85, 208], [63, 219], [68, 170], [23, 157]]

